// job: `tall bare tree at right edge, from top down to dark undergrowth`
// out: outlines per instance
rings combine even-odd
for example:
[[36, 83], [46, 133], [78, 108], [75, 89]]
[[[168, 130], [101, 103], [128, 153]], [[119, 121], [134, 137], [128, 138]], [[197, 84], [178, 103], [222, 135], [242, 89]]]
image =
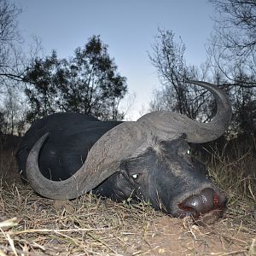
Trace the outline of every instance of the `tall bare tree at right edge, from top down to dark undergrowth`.
[[256, 1], [210, 2], [217, 15], [208, 46], [209, 61], [229, 87], [233, 130], [252, 134], [256, 119]]

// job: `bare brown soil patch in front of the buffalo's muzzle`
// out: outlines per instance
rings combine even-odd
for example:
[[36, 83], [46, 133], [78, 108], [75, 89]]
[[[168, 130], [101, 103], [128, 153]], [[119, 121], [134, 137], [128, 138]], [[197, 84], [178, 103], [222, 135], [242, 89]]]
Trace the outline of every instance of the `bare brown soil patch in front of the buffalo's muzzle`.
[[245, 255], [245, 243], [255, 241], [255, 235], [230, 230], [222, 220], [201, 227], [166, 216], [152, 223], [149, 230], [152, 236], [147, 241], [152, 255]]

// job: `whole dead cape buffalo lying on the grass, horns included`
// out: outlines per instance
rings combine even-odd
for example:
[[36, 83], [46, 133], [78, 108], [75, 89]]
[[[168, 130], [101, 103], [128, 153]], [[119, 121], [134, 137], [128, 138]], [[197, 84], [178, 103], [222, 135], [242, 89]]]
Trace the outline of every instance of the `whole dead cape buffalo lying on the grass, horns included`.
[[189, 143], [220, 137], [229, 125], [228, 97], [213, 84], [188, 81], [212, 92], [218, 111], [210, 123], [179, 113], [147, 113], [136, 122], [100, 121], [55, 113], [34, 122], [17, 152], [21, 176], [51, 199], [90, 190], [114, 201], [148, 201], [174, 217], [216, 219], [226, 199], [191, 156]]

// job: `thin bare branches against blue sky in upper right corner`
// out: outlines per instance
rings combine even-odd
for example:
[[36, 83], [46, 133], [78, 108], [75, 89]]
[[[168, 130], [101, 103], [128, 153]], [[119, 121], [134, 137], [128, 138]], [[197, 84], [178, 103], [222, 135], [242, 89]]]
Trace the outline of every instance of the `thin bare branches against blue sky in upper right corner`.
[[[210, 0], [217, 11], [208, 53], [212, 66], [236, 84], [240, 70], [256, 77], [256, 1]], [[239, 81], [238, 81], [239, 82]], [[255, 79], [243, 86], [256, 86]]]

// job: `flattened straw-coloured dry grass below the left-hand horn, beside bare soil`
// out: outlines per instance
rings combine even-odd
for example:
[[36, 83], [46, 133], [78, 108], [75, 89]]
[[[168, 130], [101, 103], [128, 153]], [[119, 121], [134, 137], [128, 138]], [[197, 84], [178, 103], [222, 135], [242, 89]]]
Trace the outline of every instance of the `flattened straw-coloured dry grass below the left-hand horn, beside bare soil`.
[[1, 195], [1, 216], [12, 219], [2, 228], [0, 243], [5, 245], [0, 249], [14, 255], [107, 255], [132, 247], [136, 251], [134, 228], [143, 236], [142, 229], [158, 214], [145, 205], [123, 206], [93, 195], [60, 205], [35, 195], [29, 186], [14, 185]]

